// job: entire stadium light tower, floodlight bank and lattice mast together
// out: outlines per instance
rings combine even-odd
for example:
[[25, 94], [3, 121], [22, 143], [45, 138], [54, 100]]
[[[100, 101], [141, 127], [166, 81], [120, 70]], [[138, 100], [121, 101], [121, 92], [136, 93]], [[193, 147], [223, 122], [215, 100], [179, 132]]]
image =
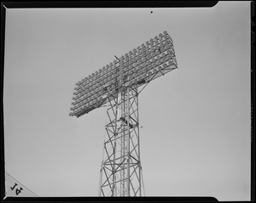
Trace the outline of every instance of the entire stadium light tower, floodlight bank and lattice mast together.
[[138, 94], [177, 68], [172, 38], [164, 31], [116, 59], [76, 83], [69, 116], [83, 116], [107, 104], [99, 195], [141, 196]]

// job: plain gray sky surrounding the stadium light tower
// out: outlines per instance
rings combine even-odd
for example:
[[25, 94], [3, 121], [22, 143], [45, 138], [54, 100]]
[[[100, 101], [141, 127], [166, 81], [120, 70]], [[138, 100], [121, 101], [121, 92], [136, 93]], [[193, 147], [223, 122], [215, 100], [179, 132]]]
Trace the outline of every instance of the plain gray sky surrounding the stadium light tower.
[[249, 200], [250, 26], [249, 2], [7, 9], [6, 172], [39, 196], [98, 195], [106, 109], [68, 116], [75, 82], [167, 31], [178, 69], [139, 97], [146, 195]]

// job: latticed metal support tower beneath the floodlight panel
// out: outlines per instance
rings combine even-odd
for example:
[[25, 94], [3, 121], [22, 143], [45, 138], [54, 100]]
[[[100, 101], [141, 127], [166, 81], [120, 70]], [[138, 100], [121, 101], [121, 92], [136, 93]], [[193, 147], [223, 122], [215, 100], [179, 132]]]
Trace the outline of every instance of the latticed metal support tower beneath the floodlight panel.
[[99, 195], [142, 196], [137, 86], [121, 87], [109, 104]]

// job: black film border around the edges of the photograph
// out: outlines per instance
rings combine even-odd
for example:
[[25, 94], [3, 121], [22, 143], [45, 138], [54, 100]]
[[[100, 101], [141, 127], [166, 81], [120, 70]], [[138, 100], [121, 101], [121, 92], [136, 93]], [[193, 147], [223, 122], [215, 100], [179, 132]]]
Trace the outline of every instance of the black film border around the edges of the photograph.
[[[5, 17], [6, 8], [206, 8], [213, 7], [218, 1], [73, 1], [73, 2], [1, 2], [1, 93], [3, 98], [3, 67], [4, 67], [4, 43], [5, 43]], [[255, 10], [254, 2], [251, 2], [251, 19]], [[251, 30], [253, 30], [253, 23], [251, 24]], [[255, 41], [255, 34], [251, 32], [251, 200], [255, 200], [255, 139], [253, 132], [253, 124], [255, 122], [253, 116], [253, 104], [255, 101], [255, 47], [253, 43]], [[150, 202], [204, 202], [204, 201], [218, 201], [214, 197], [138, 197], [138, 198], [122, 198], [115, 197], [36, 197], [36, 198], [21, 198], [21, 197], [8, 197], [3, 200], [5, 185], [4, 185], [4, 138], [3, 138], [3, 99], [1, 108], [1, 202], [20, 202], [20, 201], [150, 201]]]

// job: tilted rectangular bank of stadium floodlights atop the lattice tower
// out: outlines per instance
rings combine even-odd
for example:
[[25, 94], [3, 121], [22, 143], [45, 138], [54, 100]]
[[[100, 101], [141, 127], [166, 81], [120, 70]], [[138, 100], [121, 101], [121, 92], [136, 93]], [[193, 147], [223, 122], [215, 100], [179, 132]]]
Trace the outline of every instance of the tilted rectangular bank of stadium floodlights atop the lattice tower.
[[176, 68], [172, 38], [164, 31], [77, 82], [69, 116], [83, 116], [126, 87], [141, 86]]

